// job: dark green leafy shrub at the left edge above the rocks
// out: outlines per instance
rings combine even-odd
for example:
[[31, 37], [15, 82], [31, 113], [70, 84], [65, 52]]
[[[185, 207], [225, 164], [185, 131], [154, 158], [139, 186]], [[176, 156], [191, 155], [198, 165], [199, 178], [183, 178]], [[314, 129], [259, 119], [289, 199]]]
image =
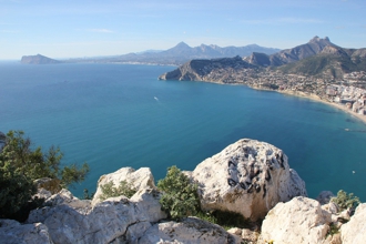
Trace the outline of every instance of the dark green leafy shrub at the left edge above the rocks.
[[70, 187], [82, 182], [89, 173], [89, 165], [61, 165], [63, 154], [51, 146], [43, 153], [41, 146], [32, 148], [22, 131], [9, 131], [0, 149], [0, 217], [23, 221], [31, 209], [42, 201], [32, 199], [37, 192], [34, 180], [57, 179], [60, 187]]

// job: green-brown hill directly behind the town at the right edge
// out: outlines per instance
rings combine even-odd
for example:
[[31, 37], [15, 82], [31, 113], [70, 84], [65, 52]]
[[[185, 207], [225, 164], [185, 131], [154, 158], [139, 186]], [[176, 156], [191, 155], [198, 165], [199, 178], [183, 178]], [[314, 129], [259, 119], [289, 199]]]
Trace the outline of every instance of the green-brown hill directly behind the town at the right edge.
[[345, 73], [366, 71], [366, 49], [327, 45], [316, 55], [277, 69], [284, 73], [343, 79]]

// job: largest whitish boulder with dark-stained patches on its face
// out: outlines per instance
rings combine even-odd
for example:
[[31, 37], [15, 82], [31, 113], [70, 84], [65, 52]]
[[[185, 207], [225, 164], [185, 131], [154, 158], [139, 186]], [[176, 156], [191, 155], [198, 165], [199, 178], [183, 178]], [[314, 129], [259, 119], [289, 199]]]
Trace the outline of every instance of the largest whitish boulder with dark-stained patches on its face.
[[304, 181], [274, 145], [243, 139], [200, 163], [191, 174], [203, 210], [231, 211], [256, 221], [278, 202], [306, 196]]

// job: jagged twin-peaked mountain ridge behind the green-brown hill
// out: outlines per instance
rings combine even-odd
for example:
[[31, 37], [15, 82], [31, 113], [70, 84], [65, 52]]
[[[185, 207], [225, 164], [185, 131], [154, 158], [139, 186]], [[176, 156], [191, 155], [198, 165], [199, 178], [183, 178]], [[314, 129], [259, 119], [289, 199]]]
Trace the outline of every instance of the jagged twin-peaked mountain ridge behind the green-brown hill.
[[267, 55], [266, 53], [253, 52], [252, 55], [245, 58], [245, 61], [261, 67], [279, 67], [321, 53], [326, 47], [336, 48], [337, 45], [333, 44], [327, 37], [324, 39], [315, 37], [306, 44], [286, 49], [271, 55]]

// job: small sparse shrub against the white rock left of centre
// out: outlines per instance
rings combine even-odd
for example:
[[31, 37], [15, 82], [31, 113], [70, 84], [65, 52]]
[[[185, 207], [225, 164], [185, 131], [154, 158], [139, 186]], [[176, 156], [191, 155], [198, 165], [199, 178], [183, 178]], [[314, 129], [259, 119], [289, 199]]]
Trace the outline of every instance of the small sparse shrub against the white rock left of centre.
[[102, 195], [99, 197], [101, 201], [120, 195], [124, 195], [130, 199], [134, 193], [136, 193], [136, 190], [133, 187], [133, 185], [126, 181], [121, 181], [118, 187], [114, 186], [113, 182], [109, 182], [104, 185], [101, 185], [101, 190]]

